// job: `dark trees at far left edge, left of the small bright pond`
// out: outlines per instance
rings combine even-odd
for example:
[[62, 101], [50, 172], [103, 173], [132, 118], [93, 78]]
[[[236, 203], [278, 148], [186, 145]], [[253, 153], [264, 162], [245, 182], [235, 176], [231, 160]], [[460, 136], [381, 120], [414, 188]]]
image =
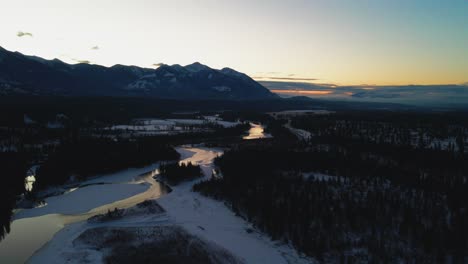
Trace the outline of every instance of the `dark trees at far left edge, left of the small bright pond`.
[[0, 153], [0, 240], [10, 232], [12, 210], [18, 195], [24, 192], [28, 170], [27, 157], [15, 152]]

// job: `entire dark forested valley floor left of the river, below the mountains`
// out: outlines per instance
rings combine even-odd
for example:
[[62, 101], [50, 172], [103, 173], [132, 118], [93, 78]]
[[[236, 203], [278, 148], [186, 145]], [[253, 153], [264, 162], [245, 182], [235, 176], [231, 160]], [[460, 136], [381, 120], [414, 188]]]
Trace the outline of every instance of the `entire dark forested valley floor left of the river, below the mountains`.
[[[85, 101], [79, 99], [70, 99], [75, 102], [70, 106], [54, 102], [47, 107], [42, 106], [52, 99], [43, 100], [45, 101], [39, 100], [38, 105], [32, 102], [27, 107], [0, 105], [0, 108], [14, 110], [9, 115], [0, 113], [0, 240], [9, 232], [13, 209], [18, 204], [23, 204], [23, 201], [26, 202], [25, 206], [34, 204], [36, 200], [40, 201], [43, 198], [41, 191], [50, 186], [77, 183], [98, 174], [143, 167], [159, 161], [175, 161], [179, 159], [179, 154], [174, 149], [176, 145], [201, 142], [211, 145], [230, 144], [242, 140], [241, 135], [250, 127], [245, 123], [229, 128], [212, 126], [209, 132], [124, 137], [119, 134], [109, 135], [104, 128], [113, 125], [114, 121], [128, 122], [129, 118], [138, 116], [143, 109], [129, 110], [129, 113], [119, 116], [119, 109], [115, 108], [115, 101], [111, 99], [108, 103], [112, 107], [101, 113], [87, 110], [80, 112], [78, 106], [85, 104]], [[126, 105], [124, 102], [132, 100], [121, 101]], [[107, 101], [101, 98], [88, 103], [96, 110], [99, 108], [98, 102], [106, 105]], [[68, 109], [67, 115], [59, 114], [53, 105]], [[39, 106], [40, 109], [35, 108]], [[153, 106], [151, 109], [154, 109]], [[194, 114], [190, 113], [176, 115], [155, 111], [152, 114], [164, 115], [165, 118], [194, 118]], [[110, 118], [111, 115], [116, 116]], [[48, 122], [57, 117], [61, 118], [62, 126], [49, 127]], [[30, 192], [25, 190], [25, 177], [32, 166], [37, 167], [37, 170], [33, 173], [36, 181]], [[194, 170], [199, 171], [198, 166], [188, 167], [188, 170], [182, 168], [184, 173], [195, 175]], [[170, 175], [174, 176], [175, 181], [179, 180], [178, 169], [170, 169]]]

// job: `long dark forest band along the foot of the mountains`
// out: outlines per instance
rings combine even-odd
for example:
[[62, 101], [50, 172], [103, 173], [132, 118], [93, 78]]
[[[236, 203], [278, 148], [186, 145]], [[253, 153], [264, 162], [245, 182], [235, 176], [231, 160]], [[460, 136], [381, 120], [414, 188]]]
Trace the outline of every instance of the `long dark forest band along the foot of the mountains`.
[[0, 97], [0, 126], [17, 126], [23, 115], [47, 120], [57, 113], [67, 115], [80, 125], [98, 121], [121, 122], [141, 117], [161, 117], [172, 112], [236, 111], [268, 112], [290, 109], [373, 109], [388, 107], [408, 109], [398, 104], [349, 103], [288, 98], [272, 100], [173, 100], [141, 97], [54, 97], [54, 96], [2, 96]]

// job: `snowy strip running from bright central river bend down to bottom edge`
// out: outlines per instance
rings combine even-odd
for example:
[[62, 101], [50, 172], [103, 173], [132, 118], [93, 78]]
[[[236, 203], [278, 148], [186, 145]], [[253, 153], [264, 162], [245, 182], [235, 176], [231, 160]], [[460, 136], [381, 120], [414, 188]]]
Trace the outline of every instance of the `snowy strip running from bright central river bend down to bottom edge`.
[[271, 239], [255, 230], [251, 224], [236, 216], [223, 202], [215, 201], [192, 192], [192, 186], [211, 176], [213, 160], [222, 155], [220, 149], [177, 148], [181, 162], [192, 162], [201, 166], [205, 177], [185, 182], [172, 188], [172, 192], [161, 197], [158, 203], [166, 210], [175, 224], [224, 247], [246, 263], [310, 263], [292, 247]]

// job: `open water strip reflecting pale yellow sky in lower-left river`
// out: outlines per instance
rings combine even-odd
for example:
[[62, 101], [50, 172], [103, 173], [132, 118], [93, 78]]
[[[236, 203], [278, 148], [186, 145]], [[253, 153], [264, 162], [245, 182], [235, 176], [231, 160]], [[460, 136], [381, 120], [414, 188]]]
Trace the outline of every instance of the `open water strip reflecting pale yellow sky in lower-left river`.
[[[45, 245], [55, 233], [67, 224], [84, 221], [110, 209], [129, 208], [147, 199], [158, 198], [168, 193], [169, 187], [153, 178], [157, 173], [157, 170], [153, 170], [136, 178], [136, 182], [134, 182], [136, 184], [143, 182], [150, 184], [150, 188], [145, 192], [96, 207], [86, 213], [75, 215], [48, 214], [13, 221], [10, 233], [0, 242], [0, 263], [25, 263], [36, 250]], [[85, 187], [82, 186], [81, 188]], [[73, 204], [70, 204], [70, 206], [73, 206]]]

